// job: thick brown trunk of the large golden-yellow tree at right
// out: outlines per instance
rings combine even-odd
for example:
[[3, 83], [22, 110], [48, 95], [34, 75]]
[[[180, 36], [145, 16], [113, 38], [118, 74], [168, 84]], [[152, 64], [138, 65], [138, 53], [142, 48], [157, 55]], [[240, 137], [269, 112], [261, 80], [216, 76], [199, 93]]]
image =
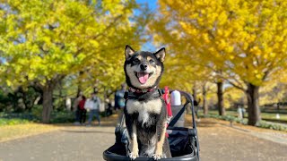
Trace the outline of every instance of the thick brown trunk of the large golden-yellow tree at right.
[[248, 125], [256, 125], [261, 120], [259, 108], [259, 86], [248, 83]]

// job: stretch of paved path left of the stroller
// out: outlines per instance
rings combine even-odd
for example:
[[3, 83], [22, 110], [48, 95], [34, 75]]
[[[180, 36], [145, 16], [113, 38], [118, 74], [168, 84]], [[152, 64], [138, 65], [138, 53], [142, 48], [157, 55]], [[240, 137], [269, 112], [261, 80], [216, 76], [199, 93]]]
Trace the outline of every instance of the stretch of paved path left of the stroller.
[[103, 160], [102, 151], [115, 140], [113, 127], [67, 127], [0, 143], [0, 160]]

